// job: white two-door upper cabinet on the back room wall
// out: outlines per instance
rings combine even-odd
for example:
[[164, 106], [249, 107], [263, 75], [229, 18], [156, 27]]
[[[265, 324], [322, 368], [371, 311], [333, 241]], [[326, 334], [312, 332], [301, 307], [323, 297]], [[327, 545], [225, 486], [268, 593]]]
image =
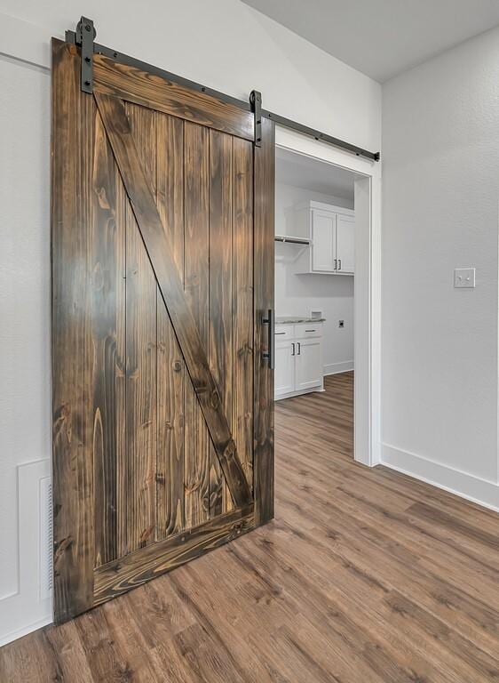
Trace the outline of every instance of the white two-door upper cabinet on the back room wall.
[[355, 269], [355, 213], [321, 202], [296, 208], [296, 226], [311, 245], [299, 254], [295, 272], [353, 275]]

